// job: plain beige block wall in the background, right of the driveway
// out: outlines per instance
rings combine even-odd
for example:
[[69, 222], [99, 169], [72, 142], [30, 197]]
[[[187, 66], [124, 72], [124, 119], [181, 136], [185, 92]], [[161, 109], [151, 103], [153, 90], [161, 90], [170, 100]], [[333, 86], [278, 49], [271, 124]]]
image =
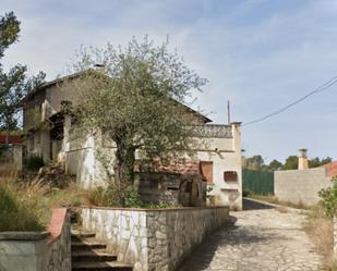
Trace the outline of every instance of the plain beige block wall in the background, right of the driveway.
[[274, 180], [278, 199], [308, 206], [317, 204], [318, 192], [332, 185], [325, 168], [275, 171]]

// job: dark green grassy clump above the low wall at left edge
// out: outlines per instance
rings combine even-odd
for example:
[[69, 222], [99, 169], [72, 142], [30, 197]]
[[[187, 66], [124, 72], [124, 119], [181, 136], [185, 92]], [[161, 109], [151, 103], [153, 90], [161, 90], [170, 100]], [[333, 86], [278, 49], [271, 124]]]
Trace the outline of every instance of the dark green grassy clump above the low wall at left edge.
[[41, 231], [45, 229], [36, 202], [14, 186], [0, 184], [0, 232]]

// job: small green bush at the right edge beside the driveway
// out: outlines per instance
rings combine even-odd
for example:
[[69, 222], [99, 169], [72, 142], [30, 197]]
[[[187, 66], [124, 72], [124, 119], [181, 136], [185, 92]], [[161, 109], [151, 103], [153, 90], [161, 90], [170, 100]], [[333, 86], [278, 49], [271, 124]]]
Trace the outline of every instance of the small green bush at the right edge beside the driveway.
[[318, 195], [325, 213], [329, 218], [337, 215], [337, 177], [334, 177], [332, 187], [322, 189]]

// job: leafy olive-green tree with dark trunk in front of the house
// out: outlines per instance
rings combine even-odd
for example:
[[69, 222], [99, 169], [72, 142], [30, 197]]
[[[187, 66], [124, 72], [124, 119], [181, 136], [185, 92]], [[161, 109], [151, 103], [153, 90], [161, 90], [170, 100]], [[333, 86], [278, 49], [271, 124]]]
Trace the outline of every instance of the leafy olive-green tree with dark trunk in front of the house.
[[[113, 181], [120, 190], [134, 181], [136, 151], [153, 161], [191, 147], [192, 115], [177, 101], [184, 103], [206, 79], [169, 52], [168, 42], [133, 38], [124, 48], [82, 48], [77, 57], [74, 70], [88, 71], [70, 83], [82, 94], [79, 125], [103, 131], [115, 143]], [[96, 63], [103, 69], [89, 70]]]

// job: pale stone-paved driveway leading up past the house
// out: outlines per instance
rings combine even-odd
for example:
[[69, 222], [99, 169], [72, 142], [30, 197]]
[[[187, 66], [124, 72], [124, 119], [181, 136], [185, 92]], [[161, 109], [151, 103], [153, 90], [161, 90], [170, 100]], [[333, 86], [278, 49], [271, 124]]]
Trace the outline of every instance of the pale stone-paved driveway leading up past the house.
[[305, 215], [245, 201], [234, 226], [213, 234], [181, 271], [317, 271], [321, 257], [302, 231]]

